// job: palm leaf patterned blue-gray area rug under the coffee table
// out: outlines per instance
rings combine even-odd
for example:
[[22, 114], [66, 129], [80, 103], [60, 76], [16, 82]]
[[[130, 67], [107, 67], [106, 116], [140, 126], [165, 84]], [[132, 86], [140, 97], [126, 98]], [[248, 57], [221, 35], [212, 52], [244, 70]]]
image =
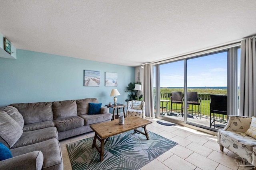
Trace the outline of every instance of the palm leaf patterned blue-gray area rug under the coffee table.
[[[140, 129], [141, 130], [141, 129]], [[178, 143], [148, 131], [145, 135], [128, 131], [112, 136], [104, 144], [104, 160], [92, 149], [93, 137], [66, 144], [73, 170], [138, 170]], [[97, 140], [96, 144], [100, 146]]]

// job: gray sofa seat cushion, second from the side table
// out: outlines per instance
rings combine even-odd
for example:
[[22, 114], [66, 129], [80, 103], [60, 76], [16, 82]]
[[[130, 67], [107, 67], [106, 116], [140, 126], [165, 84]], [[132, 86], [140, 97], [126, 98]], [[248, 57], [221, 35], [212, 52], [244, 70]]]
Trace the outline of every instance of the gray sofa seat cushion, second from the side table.
[[66, 131], [69, 129], [74, 129], [84, 125], [84, 119], [78, 116], [67, 117], [64, 119], [54, 120], [55, 126], [58, 129], [58, 132]]

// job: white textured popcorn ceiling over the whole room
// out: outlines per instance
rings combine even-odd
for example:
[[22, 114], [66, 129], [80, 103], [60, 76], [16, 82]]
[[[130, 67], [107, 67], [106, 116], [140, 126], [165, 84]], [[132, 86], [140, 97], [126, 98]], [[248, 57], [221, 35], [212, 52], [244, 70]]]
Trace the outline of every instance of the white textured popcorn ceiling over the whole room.
[[126, 66], [256, 34], [256, 0], [0, 0], [18, 49]]

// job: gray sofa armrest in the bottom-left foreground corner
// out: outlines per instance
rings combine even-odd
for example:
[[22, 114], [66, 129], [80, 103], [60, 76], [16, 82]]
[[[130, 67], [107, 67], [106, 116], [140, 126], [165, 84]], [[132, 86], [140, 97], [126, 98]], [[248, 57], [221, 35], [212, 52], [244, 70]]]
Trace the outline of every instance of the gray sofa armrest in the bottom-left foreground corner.
[[33, 151], [0, 161], [1, 170], [41, 170], [44, 156], [41, 151]]

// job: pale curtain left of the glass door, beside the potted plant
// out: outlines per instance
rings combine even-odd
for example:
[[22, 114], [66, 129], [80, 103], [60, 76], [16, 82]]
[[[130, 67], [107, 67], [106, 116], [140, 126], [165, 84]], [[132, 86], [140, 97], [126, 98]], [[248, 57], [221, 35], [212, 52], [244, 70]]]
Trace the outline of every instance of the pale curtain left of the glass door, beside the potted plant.
[[153, 95], [153, 66], [144, 65], [143, 77], [143, 98], [145, 101], [145, 116], [155, 118], [154, 114], [154, 95]]

